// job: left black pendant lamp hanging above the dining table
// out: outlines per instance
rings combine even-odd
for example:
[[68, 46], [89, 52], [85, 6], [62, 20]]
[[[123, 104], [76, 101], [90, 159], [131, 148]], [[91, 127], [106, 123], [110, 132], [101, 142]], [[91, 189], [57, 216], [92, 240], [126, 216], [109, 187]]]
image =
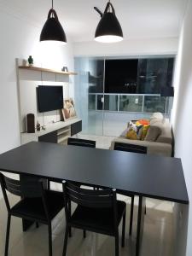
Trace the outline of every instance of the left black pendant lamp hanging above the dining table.
[[55, 9], [53, 9], [53, 0], [52, 8], [49, 9], [47, 20], [44, 23], [44, 27], [40, 35], [40, 42], [43, 41], [55, 41], [60, 42], [61, 44], [67, 44], [66, 34], [58, 20]]

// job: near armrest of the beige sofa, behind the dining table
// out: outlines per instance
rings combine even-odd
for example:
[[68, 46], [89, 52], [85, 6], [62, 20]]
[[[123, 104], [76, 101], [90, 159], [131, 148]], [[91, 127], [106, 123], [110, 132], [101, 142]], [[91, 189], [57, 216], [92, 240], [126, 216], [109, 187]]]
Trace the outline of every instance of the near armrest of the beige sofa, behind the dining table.
[[124, 137], [115, 138], [109, 149], [113, 150], [114, 143], [128, 143], [133, 145], [141, 145], [147, 148], [147, 154], [157, 154], [163, 156], [172, 156], [172, 145], [168, 143], [157, 143], [139, 140], [130, 140]]

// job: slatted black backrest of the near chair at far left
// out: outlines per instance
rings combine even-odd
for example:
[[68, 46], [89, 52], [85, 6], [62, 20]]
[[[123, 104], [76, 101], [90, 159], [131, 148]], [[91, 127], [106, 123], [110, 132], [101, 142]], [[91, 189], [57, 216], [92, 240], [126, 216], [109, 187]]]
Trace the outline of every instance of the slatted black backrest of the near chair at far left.
[[45, 213], [47, 214], [47, 217], [49, 217], [44, 195], [43, 183], [41, 181], [30, 181], [29, 179], [29, 181], [26, 181], [26, 183], [22, 183], [22, 181], [6, 177], [3, 175], [3, 173], [0, 172], [0, 183], [3, 191], [3, 198], [8, 209], [8, 212], [10, 211], [10, 204], [7, 191], [9, 191], [9, 193], [13, 195], [18, 195], [21, 198], [41, 197], [44, 204]]

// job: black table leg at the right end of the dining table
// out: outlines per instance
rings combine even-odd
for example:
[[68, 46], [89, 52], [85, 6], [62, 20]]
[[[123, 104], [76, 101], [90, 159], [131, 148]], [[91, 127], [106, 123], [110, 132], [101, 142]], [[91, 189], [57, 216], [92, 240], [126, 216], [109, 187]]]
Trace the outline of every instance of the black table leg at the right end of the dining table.
[[136, 256], [139, 256], [140, 247], [143, 238], [143, 226], [145, 215], [146, 199], [143, 196], [139, 196], [138, 215], [137, 215], [137, 241], [136, 241]]

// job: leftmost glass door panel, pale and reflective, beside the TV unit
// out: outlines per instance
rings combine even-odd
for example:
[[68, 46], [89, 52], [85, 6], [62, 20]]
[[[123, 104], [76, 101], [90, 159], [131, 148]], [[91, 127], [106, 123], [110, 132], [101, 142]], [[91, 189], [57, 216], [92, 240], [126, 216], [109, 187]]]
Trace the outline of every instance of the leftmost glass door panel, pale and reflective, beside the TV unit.
[[75, 102], [77, 113], [83, 120], [83, 133], [103, 134], [103, 77], [104, 60], [75, 58]]

